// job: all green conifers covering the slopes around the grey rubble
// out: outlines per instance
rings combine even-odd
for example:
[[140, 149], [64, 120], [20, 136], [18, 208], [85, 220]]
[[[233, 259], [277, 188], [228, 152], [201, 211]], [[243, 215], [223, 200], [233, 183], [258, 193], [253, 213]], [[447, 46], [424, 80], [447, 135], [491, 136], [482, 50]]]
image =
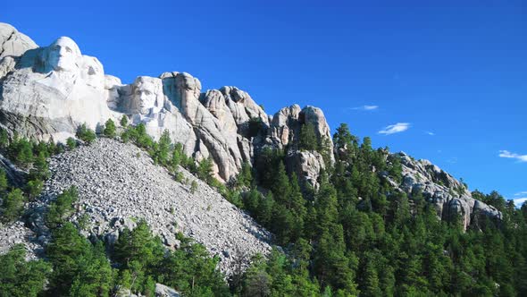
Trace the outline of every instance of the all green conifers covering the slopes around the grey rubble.
[[[138, 220], [111, 250], [79, 234], [82, 225], [69, 223], [77, 191], [64, 191], [49, 207], [46, 225], [52, 240], [46, 260], [25, 261], [15, 246], [0, 256], [0, 296], [109, 296], [119, 289], [152, 296], [155, 283], [188, 296], [525, 296], [527, 295], [527, 204], [514, 208], [498, 192], [473, 191], [503, 213], [501, 221], [481, 218], [464, 231], [456, 219], [440, 221], [422, 193], [396, 191], [379, 173], [401, 182], [401, 165], [388, 148], [372, 148], [342, 124], [334, 135], [336, 162], [326, 168], [313, 189], [288, 173], [286, 152], [263, 148], [255, 167], [244, 164], [228, 186], [213, 179], [210, 159], [195, 162], [168, 132], [154, 141], [143, 125], [121, 127], [107, 122], [106, 137], [120, 134], [145, 148], [174, 179], [179, 166], [245, 208], [275, 234], [280, 245], [269, 257], [256, 256], [245, 273], [230, 279], [217, 271], [218, 259], [179, 235], [179, 250], [167, 252]], [[85, 126], [78, 137], [95, 140]], [[314, 128], [301, 127], [299, 149], [318, 151], [328, 159], [333, 149], [316, 141]], [[0, 132], [2, 152], [29, 170], [24, 189], [8, 184], [0, 172], [2, 221], [13, 222], [35, 199], [49, 175], [46, 157], [63, 147]], [[77, 141], [68, 142], [70, 149]], [[31, 182], [31, 183], [30, 183]]]

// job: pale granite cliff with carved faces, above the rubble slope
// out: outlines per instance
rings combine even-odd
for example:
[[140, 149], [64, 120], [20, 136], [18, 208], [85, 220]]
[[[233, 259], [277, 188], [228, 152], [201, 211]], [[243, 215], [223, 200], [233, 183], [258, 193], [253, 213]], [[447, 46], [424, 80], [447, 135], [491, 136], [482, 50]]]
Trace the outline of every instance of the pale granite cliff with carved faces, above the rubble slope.
[[[6, 35], [20, 34], [7, 24], [0, 28]], [[216, 178], [223, 182], [238, 174], [244, 162], [253, 163], [255, 149], [288, 145], [300, 122], [314, 123], [317, 136], [330, 139], [319, 108], [291, 106], [273, 119], [247, 92], [235, 87], [202, 92], [200, 81], [185, 72], [139, 76], [123, 84], [105, 74], [95, 57], [82, 55], [71, 38], [57, 38], [48, 47], [26, 40], [17, 44], [16, 52], [0, 55], [0, 126], [21, 136], [63, 142], [82, 123], [100, 131], [106, 120], [126, 115], [132, 124], [144, 123], [154, 138], [170, 132], [197, 160], [211, 157]], [[289, 109], [295, 112], [285, 112]], [[249, 135], [250, 121], [260, 123], [257, 135]], [[308, 158], [323, 162], [321, 157]], [[318, 173], [305, 172], [314, 175], [305, 178], [315, 183]]]

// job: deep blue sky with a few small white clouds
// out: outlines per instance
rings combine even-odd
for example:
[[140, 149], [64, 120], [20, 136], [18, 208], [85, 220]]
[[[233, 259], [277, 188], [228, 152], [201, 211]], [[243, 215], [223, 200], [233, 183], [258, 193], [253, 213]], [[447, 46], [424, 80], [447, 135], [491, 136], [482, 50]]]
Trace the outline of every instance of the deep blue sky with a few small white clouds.
[[69, 36], [123, 82], [189, 72], [268, 113], [320, 106], [333, 129], [527, 198], [525, 3], [365, 3], [10, 1], [0, 21], [39, 45]]

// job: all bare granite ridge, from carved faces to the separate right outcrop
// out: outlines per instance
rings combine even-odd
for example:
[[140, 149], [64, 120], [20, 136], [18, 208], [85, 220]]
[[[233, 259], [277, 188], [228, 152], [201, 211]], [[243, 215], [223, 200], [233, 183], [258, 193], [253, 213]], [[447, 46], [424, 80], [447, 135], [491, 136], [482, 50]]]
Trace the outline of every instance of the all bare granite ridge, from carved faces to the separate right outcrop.
[[[121, 84], [105, 74], [95, 57], [81, 55], [70, 38], [37, 47], [12, 26], [0, 24], [0, 28], [2, 48], [9, 49], [0, 60], [0, 70], [4, 69], [0, 72], [0, 126], [12, 134], [65, 141], [74, 137], [81, 123], [100, 132], [107, 119], [119, 121], [125, 115], [133, 124], [145, 124], [155, 139], [169, 131], [197, 161], [212, 158], [213, 174], [222, 182], [231, 182], [244, 163], [255, 165], [263, 148], [284, 149], [289, 173], [295, 172], [313, 188], [318, 187], [322, 171], [335, 162], [330, 126], [320, 108], [293, 105], [267, 115], [246, 91], [228, 86], [202, 91], [201, 82], [187, 72], [139, 76], [130, 85]], [[328, 142], [325, 148], [300, 148], [301, 130], [307, 125], [313, 126], [311, 137], [319, 145]], [[479, 216], [475, 213], [501, 217], [496, 208], [476, 203], [468, 189], [457, 193], [461, 184], [439, 167], [430, 164], [430, 170], [423, 169], [422, 163], [404, 154], [395, 156], [405, 161], [403, 181], [397, 184], [388, 178], [389, 182], [407, 194], [424, 190], [426, 199], [438, 208], [439, 218], [459, 214], [466, 229]], [[420, 168], [416, 176], [424, 181], [416, 179], [416, 167]], [[446, 176], [442, 182], [447, 186], [434, 182], [427, 170]]]

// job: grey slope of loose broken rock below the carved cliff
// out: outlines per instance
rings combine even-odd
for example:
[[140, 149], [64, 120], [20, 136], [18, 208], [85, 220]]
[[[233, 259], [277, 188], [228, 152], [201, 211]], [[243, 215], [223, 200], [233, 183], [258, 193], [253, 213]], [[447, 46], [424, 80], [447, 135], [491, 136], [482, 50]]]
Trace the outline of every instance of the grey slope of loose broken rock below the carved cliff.
[[[271, 234], [245, 212], [183, 168], [180, 172], [188, 182], [174, 181], [165, 168], [133, 144], [99, 139], [52, 157], [50, 170], [42, 203], [76, 186], [79, 211], [72, 220], [87, 214], [90, 233], [106, 241], [114, 242], [124, 226], [144, 218], [171, 248], [179, 245], [178, 231], [204, 244], [220, 257], [219, 267], [227, 276], [240, 262], [247, 266], [251, 256], [271, 250]], [[192, 181], [198, 185], [194, 194]]]

